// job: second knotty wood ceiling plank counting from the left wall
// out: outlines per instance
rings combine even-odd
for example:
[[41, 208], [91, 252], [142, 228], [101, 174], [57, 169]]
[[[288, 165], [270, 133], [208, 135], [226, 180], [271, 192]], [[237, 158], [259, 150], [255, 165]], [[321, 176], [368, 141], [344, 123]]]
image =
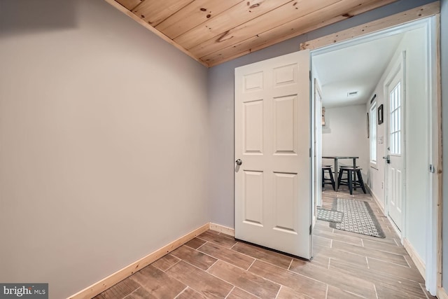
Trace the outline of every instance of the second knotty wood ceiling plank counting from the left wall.
[[193, 0], [144, 0], [132, 12], [155, 27], [176, 11], [190, 4], [191, 1]]

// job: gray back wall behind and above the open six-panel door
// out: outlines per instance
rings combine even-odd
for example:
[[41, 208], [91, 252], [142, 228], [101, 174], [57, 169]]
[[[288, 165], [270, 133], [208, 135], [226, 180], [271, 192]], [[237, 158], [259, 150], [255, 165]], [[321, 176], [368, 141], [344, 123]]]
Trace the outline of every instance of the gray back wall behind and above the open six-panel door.
[[209, 69], [209, 127], [210, 127], [210, 211], [212, 221], [234, 227], [234, 129], [233, 88], [234, 69], [299, 50], [300, 43], [316, 39], [365, 22], [406, 11], [433, 0], [400, 0], [374, 11], [337, 22], [334, 25], [297, 36], [283, 43], [239, 57]]

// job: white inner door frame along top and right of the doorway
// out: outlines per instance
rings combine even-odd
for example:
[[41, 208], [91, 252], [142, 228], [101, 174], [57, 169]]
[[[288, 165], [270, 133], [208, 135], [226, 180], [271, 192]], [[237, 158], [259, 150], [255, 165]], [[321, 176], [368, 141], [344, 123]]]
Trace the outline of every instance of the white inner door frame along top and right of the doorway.
[[[365, 34], [363, 36], [358, 36], [353, 39], [348, 39], [346, 41], [339, 41], [337, 43], [332, 43], [328, 46], [322, 46], [321, 48], [316, 48], [311, 50], [311, 70], [312, 66], [312, 57], [314, 55], [320, 55], [323, 53], [328, 53], [334, 50], [340, 50], [342, 48], [346, 48], [349, 46], [354, 46], [358, 43], [364, 43], [367, 41], [373, 41], [374, 39], [379, 39], [380, 37], [389, 36], [392, 34], [397, 34], [398, 32], [405, 32], [416, 28], [425, 27], [427, 30], [427, 57], [428, 57], [428, 135], [429, 135], [429, 143], [428, 143], [428, 153], [429, 153], [429, 161], [428, 165], [433, 165], [434, 167], [440, 167], [440, 137], [439, 137], [439, 128], [438, 128], [438, 116], [440, 113], [439, 105], [440, 98], [437, 94], [438, 90], [440, 90], [440, 81], [437, 79], [437, 70], [440, 71], [440, 67], [437, 67], [437, 63], [440, 64], [440, 60], [437, 47], [438, 43], [440, 43], [438, 37], [440, 36], [440, 32], [438, 31], [438, 22], [440, 15], [433, 15], [428, 18], [423, 18], [421, 20], [415, 20], [413, 22], [407, 22], [402, 25], [398, 25], [396, 27], [390, 27], [387, 29], [382, 29], [377, 32], [373, 32], [370, 34]], [[441, 169], [435, 169], [435, 173], [440, 171]], [[437, 249], [441, 249], [441, 219], [440, 217], [440, 209], [441, 206], [438, 206], [440, 201], [440, 180], [438, 176], [427, 173], [426, 178], [428, 179], [428, 206], [426, 217], [430, 219], [428, 221], [426, 231], [426, 256], [424, 258], [424, 262], [426, 264], [426, 288], [432, 295], [435, 295], [437, 292], [437, 287], [440, 284], [441, 273], [442, 272], [442, 264], [440, 256], [437, 258]], [[403, 227], [405, 227], [406, 223], [403, 223]], [[402, 234], [404, 235], [404, 234]], [[439, 281], [437, 281], [437, 279]]]

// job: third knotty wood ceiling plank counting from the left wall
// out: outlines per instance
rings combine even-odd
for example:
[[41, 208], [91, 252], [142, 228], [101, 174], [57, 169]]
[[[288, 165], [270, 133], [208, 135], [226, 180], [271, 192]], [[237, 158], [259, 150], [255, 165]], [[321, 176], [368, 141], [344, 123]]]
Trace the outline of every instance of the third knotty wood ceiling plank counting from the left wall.
[[240, 2], [241, 0], [196, 0], [169, 16], [155, 29], [158, 29], [170, 39], [175, 39]]

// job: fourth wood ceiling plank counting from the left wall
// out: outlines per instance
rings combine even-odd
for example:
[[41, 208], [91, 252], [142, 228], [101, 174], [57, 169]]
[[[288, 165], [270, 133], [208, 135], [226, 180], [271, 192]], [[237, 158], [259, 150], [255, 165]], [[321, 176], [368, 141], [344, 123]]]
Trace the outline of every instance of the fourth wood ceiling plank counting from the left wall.
[[[146, 0], [148, 1], [148, 0]], [[207, 22], [191, 29], [190, 31], [178, 36], [174, 41], [189, 49], [207, 41], [208, 39], [224, 34], [228, 30], [241, 25], [259, 15], [272, 11], [291, 0], [258, 0], [258, 1], [242, 1], [236, 6], [228, 9], [224, 13], [217, 15], [215, 18], [207, 20]]]

